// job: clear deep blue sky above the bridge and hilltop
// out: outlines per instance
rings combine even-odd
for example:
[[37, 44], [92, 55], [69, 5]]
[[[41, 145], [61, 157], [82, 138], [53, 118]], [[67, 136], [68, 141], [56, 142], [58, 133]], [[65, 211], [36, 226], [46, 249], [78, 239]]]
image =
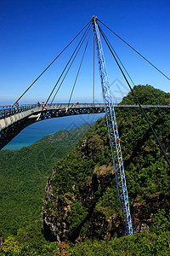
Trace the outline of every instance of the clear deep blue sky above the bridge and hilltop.
[[[0, 105], [12, 104], [93, 15], [98, 16], [99, 20], [170, 77], [169, 13], [170, 2], [167, 0], [0, 0]], [[151, 84], [158, 89], [170, 91], [170, 81], [140, 60], [111, 32], [106, 34], [131, 74], [134, 84]], [[54, 64], [20, 103], [46, 101], [72, 49]], [[121, 97], [127, 93], [127, 87], [105, 47], [104, 50], [113, 95]], [[68, 102], [76, 74], [75, 68], [63, 84], [63, 90], [56, 101]], [[96, 101], [101, 102], [98, 67], [95, 76]], [[118, 80], [113, 83], [115, 79]], [[91, 39], [73, 101], [92, 102], [92, 84]]]

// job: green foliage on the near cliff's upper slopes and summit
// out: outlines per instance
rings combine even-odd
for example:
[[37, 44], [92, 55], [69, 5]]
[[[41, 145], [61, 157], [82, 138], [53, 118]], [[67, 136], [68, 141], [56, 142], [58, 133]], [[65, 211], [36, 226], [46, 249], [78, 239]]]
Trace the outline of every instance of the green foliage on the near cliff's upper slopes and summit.
[[[158, 92], [160, 90], [155, 91], [149, 85], [146, 87], [139, 85], [135, 90], [138, 89], [141, 98], [143, 95], [150, 95], [150, 99], [156, 96], [155, 103], [159, 102]], [[167, 100], [169, 94], [160, 91], [161, 104], [166, 102], [163, 102], [162, 95]], [[131, 94], [125, 97], [123, 102], [131, 102]], [[169, 108], [145, 109], [145, 113], [155, 129], [162, 147], [165, 148], [167, 156], [170, 156]], [[157, 206], [152, 211], [156, 212], [159, 208], [165, 207], [166, 214], [168, 214], [169, 166], [156, 143], [156, 138], [150, 131], [143, 114], [139, 112], [139, 108], [119, 109], [116, 111], [116, 116], [132, 212], [135, 211], [133, 210], [134, 201], [138, 201], [139, 205], [145, 205], [143, 211], [149, 214], [153, 198], [157, 197]], [[54, 193], [59, 194], [58, 208], [54, 207], [52, 198], [51, 201], [48, 201], [45, 210], [49, 215], [53, 214], [61, 221], [62, 205], [65, 204], [68, 196], [74, 198], [71, 203], [71, 212], [67, 218], [70, 234], [74, 234], [82, 225], [80, 236], [86, 236], [88, 222], [91, 221], [88, 218], [91, 208], [84, 203], [83, 189], [88, 183], [92, 183], [94, 172], [96, 169], [99, 170], [99, 166], [110, 166], [111, 163], [111, 149], [105, 119], [99, 119], [77, 143], [77, 147], [57, 162], [50, 181], [54, 186]], [[94, 212], [98, 212], [98, 215], [101, 216], [104, 214], [105, 218], [121, 216], [115, 178], [105, 191], [97, 190], [95, 195], [97, 201]], [[164, 205], [161, 200], [164, 200]], [[98, 239], [102, 237], [99, 227], [96, 228], [94, 237]]]

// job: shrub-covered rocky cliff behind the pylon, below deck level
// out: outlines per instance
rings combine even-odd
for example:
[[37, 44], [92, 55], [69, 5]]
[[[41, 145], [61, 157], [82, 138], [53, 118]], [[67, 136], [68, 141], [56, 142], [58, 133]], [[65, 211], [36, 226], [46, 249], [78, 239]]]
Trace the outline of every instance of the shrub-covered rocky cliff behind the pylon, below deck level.
[[[169, 112], [148, 111], [167, 154]], [[117, 113], [133, 232], [150, 231], [155, 214], [170, 208], [169, 167], [138, 110]], [[43, 201], [42, 230], [49, 241], [109, 240], [123, 236], [105, 119], [54, 167]]]

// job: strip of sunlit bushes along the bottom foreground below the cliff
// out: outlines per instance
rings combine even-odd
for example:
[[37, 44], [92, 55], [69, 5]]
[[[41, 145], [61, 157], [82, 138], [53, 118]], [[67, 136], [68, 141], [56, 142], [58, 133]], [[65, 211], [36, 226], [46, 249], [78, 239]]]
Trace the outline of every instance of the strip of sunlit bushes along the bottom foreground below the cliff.
[[[170, 224], [170, 220], [169, 220]], [[170, 231], [156, 233], [134, 234], [122, 236], [111, 241], [85, 240], [72, 244], [69, 241], [45, 241], [40, 232], [40, 224], [35, 223], [20, 230], [18, 236], [9, 236], [0, 247], [0, 255], [49, 255], [49, 256], [136, 256], [169, 255]]]

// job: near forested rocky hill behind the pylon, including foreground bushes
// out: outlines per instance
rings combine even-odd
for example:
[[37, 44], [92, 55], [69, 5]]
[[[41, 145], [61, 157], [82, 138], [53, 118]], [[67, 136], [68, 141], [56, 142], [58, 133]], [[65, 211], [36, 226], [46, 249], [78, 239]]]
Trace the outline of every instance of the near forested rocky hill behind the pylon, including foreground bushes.
[[[134, 90], [142, 104], [167, 104], [170, 99], [150, 85]], [[134, 103], [131, 93], [122, 103]], [[169, 108], [145, 112], [170, 158]], [[9, 237], [3, 253], [15, 249], [18, 255], [169, 255], [169, 166], [139, 108], [116, 109], [116, 119], [134, 235], [124, 236], [103, 118], [55, 163], [43, 201], [44, 236], [40, 223], [32, 224]]]

